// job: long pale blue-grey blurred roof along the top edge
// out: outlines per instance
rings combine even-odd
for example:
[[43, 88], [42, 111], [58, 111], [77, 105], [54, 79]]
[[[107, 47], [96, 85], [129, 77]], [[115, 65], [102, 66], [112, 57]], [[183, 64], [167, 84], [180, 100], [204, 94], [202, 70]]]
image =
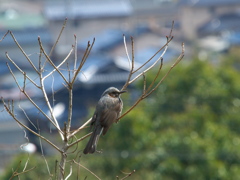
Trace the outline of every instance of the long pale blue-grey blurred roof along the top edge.
[[132, 14], [129, 1], [54, 1], [47, 2], [44, 15], [51, 20], [119, 17]]

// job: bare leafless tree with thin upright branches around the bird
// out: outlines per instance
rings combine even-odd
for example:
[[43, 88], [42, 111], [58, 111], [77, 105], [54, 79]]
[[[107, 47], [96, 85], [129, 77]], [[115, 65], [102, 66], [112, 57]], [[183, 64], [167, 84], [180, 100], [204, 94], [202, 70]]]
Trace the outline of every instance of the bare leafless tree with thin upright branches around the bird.
[[[58, 134], [61, 138], [61, 145], [58, 146], [56, 145], [54, 142], [50, 141], [50, 139], [48, 137], [45, 137], [43, 135], [40, 134], [39, 131], [35, 132], [33, 131], [30, 127], [28, 127], [26, 124], [24, 124], [23, 122], [21, 122], [15, 115], [14, 113], [14, 101], [6, 101], [4, 99], [4, 97], [1, 97], [2, 102], [4, 104], [5, 110], [9, 113], [9, 115], [22, 127], [24, 127], [26, 130], [30, 131], [31, 133], [33, 133], [34, 135], [36, 135], [37, 137], [39, 137], [40, 140], [43, 140], [45, 142], [47, 142], [49, 145], [52, 146], [52, 148], [54, 148], [59, 154], [60, 154], [60, 159], [59, 159], [59, 164], [58, 164], [58, 179], [59, 180], [63, 180], [63, 179], [68, 179], [71, 175], [72, 175], [72, 168], [70, 169], [70, 173], [66, 174], [66, 163], [70, 163], [71, 167], [72, 165], [76, 165], [79, 166], [87, 171], [89, 171], [90, 173], [92, 173], [97, 179], [100, 179], [97, 175], [95, 175], [93, 172], [91, 172], [90, 170], [88, 170], [86, 167], [84, 167], [82, 164], [80, 164], [79, 161], [73, 159], [73, 160], [68, 160], [67, 161], [67, 154], [70, 153], [69, 149], [71, 147], [74, 147], [76, 145], [78, 145], [78, 143], [80, 143], [82, 140], [84, 140], [85, 138], [87, 138], [88, 136], [90, 136], [92, 133], [88, 133], [86, 135], [84, 135], [81, 138], [73, 138], [75, 137], [75, 135], [80, 132], [82, 129], [86, 128], [87, 125], [90, 123], [91, 118], [86, 120], [86, 122], [79, 127], [76, 130], [71, 130], [71, 124], [72, 124], [72, 106], [73, 106], [73, 87], [74, 84], [77, 80], [77, 77], [79, 75], [79, 73], [81, 72], [82, 67], [84, 66], [85, 62], [87, 61], [87, 58], [91, 52], [91, 49], [94, 45], [95, 39], [93, 39], [92, 42], [88, 42], [87, 46], [86, 46], [86, 50], [83, 53], [83, 56], [81, 58], [81, 61], [79, 62], [79, 65], [77, 66], [78, 62], [77, 62], [77, 38], [75, 37], [75, 43], [72, 46], [71, 50], [69, 51], [69, 53], [67, 54], [66, 58], [64, 58], [62, 60], [62, 62], [58, 65], [56, 65], [52, 59], [51, 59], [51, 54], [54, 50], [54, 48], [56, 47], [59, 38], [61, 37], [61, 34], [65, 28], [66, 25], [66, 21], [65, 20], [63, 27], [59, 33], [58, 39], [56, 40], [54, 46], [52, 47], [50, 53], [48, 54], [44, 47], [43, 44], [41, 42], [41, 38], [38, 37], [38, 43], [39, 43], [39, 60], [38, 60], [38, 67], [34, 65], [34, 63], [32, 62], [32, 60], [29, 58], [29, 56], [25, 53], [25, 51], [22, 49], [21, 45], [18, 43], [17, 39], [14, 37], [14, 34], [11, 31], [8, 31], [3, 38], [1, 39], [1, 41], [4, 39], [5, 36], [7, 35], [11, 35], [11, 37], [13, 38], [13, 40], [15, 41], [16, 45], [18, 46], [18, 48], [21, 50], [22, 54], [25, 56], [25, 58], [27, 59], [27, 61], [29, 62], [29, 64], [31, 65], [32, 69], [37, 73], [38, 77], [39, 77], [39, 82], [36, 82], [36, 80], [32, 79], [26, 72], [24, 72], [16, 63], [13, 59], [11, 59], [10, 55], [6, 52], [6, 57], [7, 59], [10, 61], [10, 63], [12, 65], [14, 65], [18, 71], [20, 71], [24, 77], [24, 83], [21, 86], [16, 77], [14, 72], [12, 71], [11, 67], [9, 66], [9, 64], [7, 63], [7, 66], [9, 68], [9, 71], [12, 75], [12, 77], [15, 80], [16, 85], [19, 88], [19, 91], [21, 93], [23, 93], [26, 98], [28, 99], [29, 102], [31, 102], [31, 104], [33, 106], [35, 106], [35, 108], [57, 129]], [[174, 23], [173, 23], [174, 24]], [[182, 53], [179, 55], [179, 57], [176, 59], [176, 61], [172, 64], [172, 66], [170, 67], [170, 69], [167, 71], [167, 73], [159, 80], [159, 74], [160, 71], [163, 67], [163, 56], [166, 53], [167, 49], [168, 49], [168, 45], [169, 43], [172, 41], [173, 36], [172, 36], [172, 30], [173, 30], [173, 25], [172, 28], [170, 30], [169, 36], [166, 37], [166, 43], [159, 48], [159, 50], [148, 60], [146, 60], [146, 62], [144, 64], [142, 64], [140, 67], [135, 68], [135, 59], [134, 59], [134, 39], [131, 38], [131, 57], [129, 55], [129, 51], [127, 48], [127, 43], [126, 43], [126, 38], [125, 36], [123, 36], [123, 40], [124, 40], [124, 46], [125, 46], [125, 51], [126, 51], [126, 56], [128, 58], [129, 61], [129, 76], [126, 79], [126, 83], [124, 84], [124, 86], [122, 87], [122, 90], [125, 90], [128, 88], [128, 86], [130, 84], [133, 84], [134, 82], [136, 82], [136, 80], [138, 80], [139, 78], [143, 78], [143, 88], [142, 88], [142, 93], [141, 95], [138, 97], [138, 99], [133, 103], [133, 105], [127, 109], [121, 117], [119, 117], [118, 120], [120, 120], [122, 117], [126, 116], [128, 113], [130, 113], [134, 108], [136, 108], [136, 106], [145, 98], [147, 98], [149, 95], [151, 95], [159, 86], [160, 84], [165, 80], [165, 78], [168, 76], [168, 74], [170, 73], [170, 71], [182, 60], [183, 56], [184, 56], [184, 44], [182, 44]], [[161, 52], [161, 54], [159, 55], [159, 53]], [[61, 67], [63, 64], [68, 64], [70, 62], [70, 56], [73, 54], [74, 56], [74, 67], [73, 69], [70, 69], [68, 66], [68, 75], [64, 75], [61, 71]], [[151, 66], [147, 66], [149, 64], [149, 62], [155, 57], [155, 56], [159, 56], [157, 58], [157, 60], [155, 60]], [[52, 71], [49, 72], [46, 75], [43, 75], [43, 72], [45, 70], [45, 65], [46, 62], [44, 62], [44, 60], [49, 63], [52, 66]], [[148, 73], [149, 71], [151, 71], [154, 67], [158, 66], [158, 71], [155, 74], [155, 77], [153, 79], [153, 81], [150, 83], [150, 85], [146, 85], [146, 76], [145, 74]], [[147, 67], [147, 68], [146, 68]], [[69, 107], [68, 107], [68, 118], [66, 120], [66, 123], [64, 124], [64, 128], [61, 128], [59, 125], [59, 121], [57, 120], [54, 111], [53, 111], [53, 106], [50, 103], [50, 99], [47, 96], [46, 93], [46, 88], [45, 88], [45, 80], [51, 76], [53, 73], [58, 73], [61, 78], [64, 81], [64, 86], [65, 88], [68, 90], [68, 99], [69, 99]], [[27, 88], [27, 83], [26, 81], [30, 81], [30, 83], [32, 83], [35, 88], [39, 89], [42, 92], [42, 97], [44, 98], [48, 110], [50, 112], [49, 114], [46, 114], [37, 104], [36, 101], [34, 101], [32, 99], [32, 97], [29, 95], [29, 93], [26, 91]], [[72, 140], [74, 139], [74, 140]], [[71, 141], [70, 141], [71, 140]], [[72, 152], [72, 153], [77, 153], [77, 152]], [[26, 170], [26, 168], [24, 169], [23, 172], [14, 172], [13, 173], [13, 177], [14, 176], [19, 176], [22, 173], [26, 173], [30, 170], [32, 170], [33, 168]], [[129, 176], [132, 175], [132, 173], [134, 173], [135, 171], [127, 174], [125, 177], [123, 177], [122, 179], [125, 179]], [[119, 179], [119, 178], [118, 178]]]

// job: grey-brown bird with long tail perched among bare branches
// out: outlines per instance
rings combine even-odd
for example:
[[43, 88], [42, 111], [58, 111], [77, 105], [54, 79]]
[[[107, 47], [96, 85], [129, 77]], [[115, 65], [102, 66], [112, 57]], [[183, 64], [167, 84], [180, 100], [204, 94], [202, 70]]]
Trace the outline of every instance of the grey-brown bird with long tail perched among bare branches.
[[84, 154], [94, 153], [100, 135], [105, 135], [110, 126], [114, 122], [117, 122], [123, 108], [123, 102], [120, 95], [125, 92], [125, 90], [119, 91], [115, 87], [109, 87], [103, 92], [92, 116], [91, 128], [94, 127], [94, 129], [85, 149], [83, 150]]

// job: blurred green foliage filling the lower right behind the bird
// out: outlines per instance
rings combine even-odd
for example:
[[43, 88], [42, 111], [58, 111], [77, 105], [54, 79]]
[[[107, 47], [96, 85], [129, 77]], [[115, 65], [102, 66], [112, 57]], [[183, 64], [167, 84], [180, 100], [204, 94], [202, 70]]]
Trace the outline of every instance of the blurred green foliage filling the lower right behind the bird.
[[[147, 74], [148, 84], [153, 78]], [[134, 169], [129, 179], [239, 179], [239, 79], [226, 61], [179, 64], [157, 92], [100, 138], [103, 153], [82, 155], [81, 164], [104, 180]], [[95, 179], [82, 168], [80, 174]], [[70, 179], [76, 177], [75, 168]]]

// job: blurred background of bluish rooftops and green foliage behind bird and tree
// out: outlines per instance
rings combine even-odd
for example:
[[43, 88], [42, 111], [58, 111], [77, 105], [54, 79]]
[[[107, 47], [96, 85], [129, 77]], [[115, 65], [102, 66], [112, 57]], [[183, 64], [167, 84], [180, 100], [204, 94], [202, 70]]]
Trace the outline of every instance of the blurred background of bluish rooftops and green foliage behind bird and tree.
[[[82, 156], [81, 163], [102, 179], [113, 179], [122, 172], [136, 173], [131, 179], [239, 179], [240, 174], [240, 1], [239, 0], [0, 0], [0, 39], [11, 30], [28, 57], [37, 66], [38, 37], [46, 52], [56, 42], [64, 20], [66, 27], [51, 54], [60, 63], [71, 50], [77, 36], [78, 61], [87, 42], [95, 37], [92, 52], [74, 88], [73, 129], [90, 118], [96, 102], [109, 86], [121, 88], [128, 71], [123, 44], [129, 51], [134, 37], [136, 65], [143, 64], [166, 42], [172, 21], [173, 36], [164, 58], [161, 75], [181, 53], [184, 60], [171, 72], [151, 97], [142, 102], [120, 123], [102, 137], [102, 154]], [[19, 84], [24, 77], [5, 56], [22, 68], [36, 82], [37, 74], [8, 34], [0, 42], [0, 96], [15, 100], [17, 117], [39, 124], [43, 135], [60, 141], [55, 130], [19, 93], [8, 62]], [[71, 56], [72, 62], [74, 56]], [[51, 71], [45, 67], [45, 73]], [[62, 72], [67, 75], [67, 67]], [[150, 83], [156, 70], [147, 74]], [[161, 77], [162, 77], [161, 76]], [[160, 78], [161, 78], [160, 77]], [[56, 73], [45, 86], [56, 116], [63, 126], [67, 119], [68, 94]], [[141, 92], [141, 82], [123, 95], [124, 108], [131, 106]], [[30, 82], [27, 92], [45, 113], [49, 113], [40, 94]], [[24, 110], [24, 111], [23, 111]], [[25, 113], [24, 113], [25, 112]], [[26, 118], [26, 114], [27, 117]], [[27, 134], [8, 115], [0, 103], [0, 174], [8, 179], [11, 169], [30, 155], [29, 166], [37, 170], [23, 175], [48, 179], [41, 156], [39, 139]], [[79, 137], [87, 133], [86, 130]], [[79, 145], [82, 150], [85, 141]], [[44, 154], [54, 173], [56, 154], [43, 143]], [[24, 164], [22, 164], [23, 166]], [[77, 168], [74, 169], [77, 172]], [[94, 177], [81, 170], [81, 177]], [[72, 177], [76, 179], [76, 174]], [[10, 175], [11, 176], [11, 175]], [[1, 176], [0, 176], [1, 177]], [[130, 179], [130, 178], [129, 178]]]

